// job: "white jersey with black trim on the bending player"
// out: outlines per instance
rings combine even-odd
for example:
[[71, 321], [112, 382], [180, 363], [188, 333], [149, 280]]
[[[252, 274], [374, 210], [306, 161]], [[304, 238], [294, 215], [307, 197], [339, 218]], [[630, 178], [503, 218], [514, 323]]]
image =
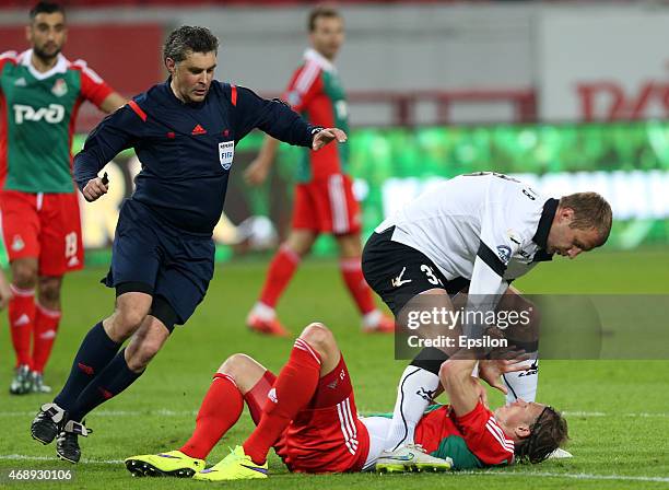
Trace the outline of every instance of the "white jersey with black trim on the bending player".
[[470, 280], [469, 294], [502, 294], [545, 253], [558, 199], [502, 174], [460, 175], [386, 219], [392, 241], [421, 252], [447, 280]]

